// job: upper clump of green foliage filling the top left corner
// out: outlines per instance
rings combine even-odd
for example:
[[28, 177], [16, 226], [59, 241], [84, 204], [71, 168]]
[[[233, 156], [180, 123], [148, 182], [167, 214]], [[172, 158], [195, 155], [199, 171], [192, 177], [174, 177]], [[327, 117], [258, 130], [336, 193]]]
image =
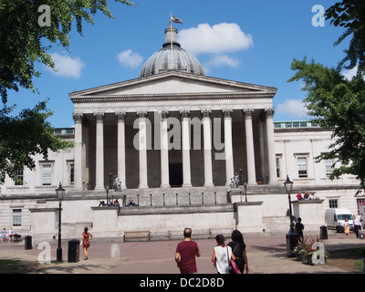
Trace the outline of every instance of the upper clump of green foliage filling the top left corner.
[[[134, 5], [127, 0], [116, 0], [121, 4]], [[47, 4], [51, 10], [51, 26], [39, 26], [38, 7]], [[34, 92], [32, 79], [39, 77], [34, 63], [43, 63], [55, 68], [42, 41], [47, 39], [69, 47], [69, 33], [76, 23], [82, 35], [83, 22], [94, 24], [93, 17], [98, 11], [112, 18], [107, 0], [11, 0], [0, 1], [0, 95], [7, 101], [7, 90], [18, 91], [19, 87]]]

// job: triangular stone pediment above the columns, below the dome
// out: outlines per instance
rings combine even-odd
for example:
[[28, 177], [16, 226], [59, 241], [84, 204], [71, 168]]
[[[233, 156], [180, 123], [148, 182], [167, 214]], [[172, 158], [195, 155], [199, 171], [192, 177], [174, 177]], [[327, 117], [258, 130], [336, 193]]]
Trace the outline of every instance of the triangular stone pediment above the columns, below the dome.
[[221, 78], [197, 76], [185, 72], [164, 72], [147, 78], [136, 78], [94, 89], [75, 91], [70, 98], [126, 97], [146, 95], [200, 94], [267, 94], [276, 93], [272, 87], [258, 86]]

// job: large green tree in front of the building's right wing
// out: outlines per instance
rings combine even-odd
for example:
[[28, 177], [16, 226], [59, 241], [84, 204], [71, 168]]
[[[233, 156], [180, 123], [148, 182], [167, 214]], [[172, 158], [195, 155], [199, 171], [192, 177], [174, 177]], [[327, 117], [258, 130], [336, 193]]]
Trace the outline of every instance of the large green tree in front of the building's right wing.
[[342, 174], [354, 174], [365, 189], [365, 81], [358, 75], [345, 78], [340, 68], [327, 68], [314, 60], [308, 63], [294, 60], [291, 64], [297, 73], [288, 81], [302, 80], [302, 90], [308, 92], [304, 100], [308, 114], [320, 127], [333, 130], [334, 142], [328, 153], [316, 159], [333, 161], [331, 179]]

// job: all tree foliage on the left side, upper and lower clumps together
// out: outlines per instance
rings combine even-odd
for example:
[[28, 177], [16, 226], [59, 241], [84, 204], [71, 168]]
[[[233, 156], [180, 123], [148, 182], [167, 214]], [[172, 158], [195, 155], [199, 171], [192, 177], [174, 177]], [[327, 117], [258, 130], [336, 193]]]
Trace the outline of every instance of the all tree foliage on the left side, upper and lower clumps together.
[[[127, 0], [116, 0], [124, 5], [134, 5]], [[69, 34], [75, 23], [82, 36], [83, 22], [93, 24], [98, 11], [113, 17], [107, 0], [47, 0], [50, 22], [46, 26], [39, 17], [43, 0], [0, 1], [0, 183], [5, 175], [18, 181], [19, 168], [35, 168], [34, 155], [41, 154], [47, 160], [48, 151], [72, 147], [54, 135], [54, 128], [47, 122], [52, 112], [47, 109], [47, 100], [39, 102], [34, 109], [22, 110], [12, 117], [14, 107], [8, 107], [7, 90], [18, 91], [19, 87], [38, 92], [33, 78], [40, 76], [35, 63], [54, 68], [47, 51], [52, 44], [68, 49]], [[41, 8], [42, 8], [41, 7]], [[42, 9], [40, 9], [42, 12]], [[47, 17], [46, 16], [46, 17]], [[50, 45], [44, 45], [44, 42]], [[38, 92], [39, 93], [39, 92]]]

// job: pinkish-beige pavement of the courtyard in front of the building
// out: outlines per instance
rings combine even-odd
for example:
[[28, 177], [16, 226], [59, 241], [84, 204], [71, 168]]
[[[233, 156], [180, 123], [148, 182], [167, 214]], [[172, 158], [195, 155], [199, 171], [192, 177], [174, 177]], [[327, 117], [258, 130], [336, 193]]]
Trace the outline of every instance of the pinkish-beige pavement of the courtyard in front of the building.
[[[326, 250], [342, 250], [364, 247], [365, 240], [357, 239], [350, 234], [329, 234], [323, 240]], [[315, 236], [314, 236], [315, 237]], [[194, 240], [194, 239], [193, 239]], [[32, 274], [180, 274], [174, 262], [176, 245], [181, 240], [122, 242], [120, 238], [95, 239], [89, 247], [89, 258], [84, 259], [83, 250], [79, 249], [79, 261], [68, 263], [68, 241], [62, 242], [63, 261], [56, 262], [57, 241], [49, 245], [42, 244], [26, 250], [21, 243], [0, 244], [0, 259], [21, 260], [32, 266], [25, 273]], [[201, 256], [197, 258], [198, 274], [215, 274], [216, 269], [211, 261], [214, 239], [196, 239]], [[228, 241], [227, 241], [228, 242]], [[249, 274], [350, 274], [338, 266], [309, 266], [287, 256], [286, 235], [245, 235], [246, 253]], [[111, 245], [118, 245], [120, 256], [110, 257]], [[50, 263], [39, 264], [47, 259]]]

